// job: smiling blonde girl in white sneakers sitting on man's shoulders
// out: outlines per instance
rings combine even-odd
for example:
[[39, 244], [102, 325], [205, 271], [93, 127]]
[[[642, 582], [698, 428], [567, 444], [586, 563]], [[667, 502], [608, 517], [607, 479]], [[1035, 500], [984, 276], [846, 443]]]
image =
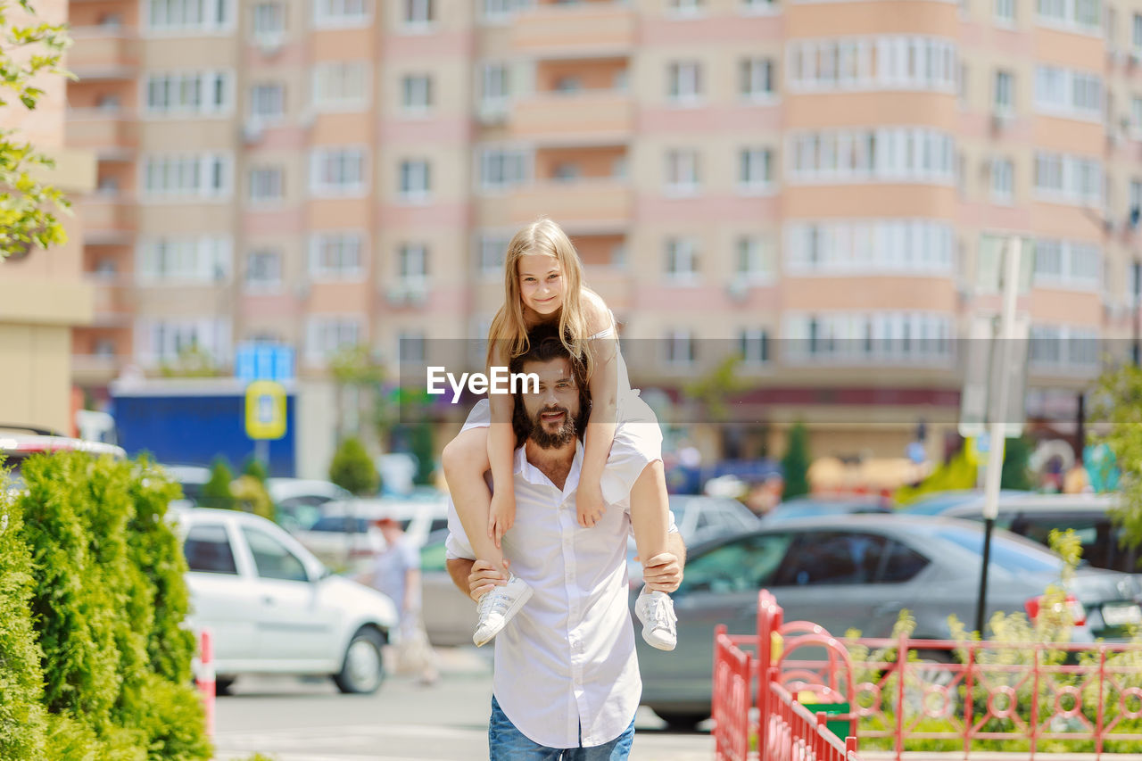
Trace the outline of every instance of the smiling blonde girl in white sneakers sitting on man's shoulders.
[[[582, 528], [592, 528], [605, 503], [630, 496], [630, 522], [643, 564], [666, 552], [669, 507], [662, 474], [662, 434], [654, 414], [630, 388], [619, 353], [614, 315], [582, 282], [582, 264], [563, 230], [540, 218], [515, 234], [504, 263], [504, 305], [488, 336], [488, 366], [506, 367], [528, 350], [528, 331], [539, 325], [558, 327], [572, 357], [581, 357], [592, 396], [584, 457], [576, 492]], [[460, 433], [443, 452], [444, 476], [465, 534], [478, 560], [504, 567], [501, 539], [515, 520], [512, 427], [514, 398], [489, 394], [473, 408]], [[624, 463], [626, 467], [608, 470]], [[634, 467], [629, 465], [645, 465]], [[489, 494], [484, 474], [491, 471]], [[619, 473], [638, 473], [632, 483]], [[531, 596], [531, 588], [509, 575], [478, 601], [480, 623], [473, 635], [484, 644]], [[635, 606], [643, 639], [660, 649], [676, 642], [669, 595], [644, 590]]]

